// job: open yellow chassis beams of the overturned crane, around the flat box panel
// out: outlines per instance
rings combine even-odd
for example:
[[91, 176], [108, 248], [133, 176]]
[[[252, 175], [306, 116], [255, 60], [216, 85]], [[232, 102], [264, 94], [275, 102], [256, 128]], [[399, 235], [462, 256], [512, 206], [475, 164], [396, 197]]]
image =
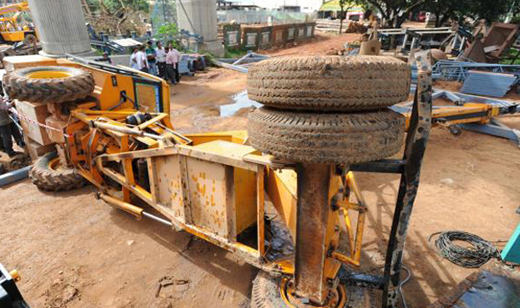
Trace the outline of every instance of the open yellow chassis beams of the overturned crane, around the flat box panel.
[[[67, 145], [71, 160], [80, 174], [101, 190], [104, 194], [102, 199], [134, 216], [139, 216], [140, 209], [132, 205], [131, 196], [136, 196], [167, 217], [176, 230], [184, 230], [237, 253], [246, 262], [261, 269], [293, 274], [294, 265], [291, 261], [281, 260], [267, 263], [264, 258], [266, 253], [264, 246], [264, 203], [267, 198], [279, 210], [291, 234], [294, 236], [296, 233], [295, 218], [291, 215], [286, 215], [287, 213], [296, 212], [296, 177], [294, 176], [295, 172], [290, 169], [291, 167], [286, 166], [283, 171], [276, 172], [273, 166], [279, 168], [280, 165], [273, 161], [272, 157], [264, 156], [254, 148], [243, 144], [247, 136], [244, 131], [186, 135], [185, 137], [191, 141], [188, 144], [185, 139], [171, 134], [168, 130], [158, 125], [161, 124], [161, 126], [172, 129], [169, 117], [166, 114], [153, 114], [151, 120], [136, 127], [137, 130], [154, 131], [163, 137], [162, 140], [154, 140], [137, 135], [131, 136], [119, 132], [117, 127], [128, 128], [123, 123], [123, 120], [128, 115], [134, 113], [134, 110], [94, 111], [76, 109], [72, 111], [72, 117], [78, 119], [78, 121], [67, 128], [67, 133], [70, 135]], [[92, 123], [97, 121], [113, 125], [113, 129], [93, 127]], [[89, 130], [88, 132], [86, 132], [87, 129]], [[77, 132], [81, 134], [77, 136]], [[131, 139], [134, 141], [132, 142]], [[146, 144], [148, 149], [135, 150], [135, 141]], [[235, 146], [231, 146], [232, 144], [235, 144]], [[104, 147], [106, 154], [94, 156], [93, 153], [98, 147]], [[186, 164], [186, 160], [196, 160], [226, 166], [225, 168], [233, 170], [249, 170], [255, 174], [255, 186], [243, 188], [243, 195], [239, 198], [244, 199], [256, 195], [254, 200], [256, 206], [246, 209], [246, 211], [254, 210], [254, 213], [242, 215], [242, 217], [251, 217], [251, 215], [254, 217], [253, 223], [257, 225], [256, 247], [238, 242], [236, 231], [227, 237], [215, 234], [204, 226], [191, 223], [188, 216], [178, 217], [172, 215], [172, 212], [165, 209], [164, 205], [159, 204], [159, 188], [156, 184], [159, 178], [152, 176], [157, 172], [154, 170], [156, 168], [155, 161], [158, 158], [166, 159], [173, 156], [178, 156], [181, 164], [183, 161]], [[135, 170], [132, 164], [136, 159], [145, 159], [147, 161], [151, 184], [149, 191], [136, 182]], [[111, 163], [120, 164], [121, 169], [117, 170], [117, 168], [108, 167]], [[188, 174], [186, 169], [181, 170], [181, 172]], [[111, 181], [118, 183], [121, 186], [121, 193], [109, 189], [106, 186], [106, 178], [110, 178]], [[366, 203], [352, 172], [346, 174], [344, 181], [344, 185], [354, 193], [358, 203], [349, 202], [347, 197], [343, 197], [337, 203], [339, 207], [334, 212], [335, 219], [333, 219], [330, 228], [334, 230], [334, 226], [343, 226], [342, 229], [349, 236], [350, 246], [348, 256], [336, 251], [332, 254], [332, 257], [340, 262], [359, 265]], [[340, 183], [342, 183], [341, 177], [337, 177], [337, 182], [339, 187]], [[231, 185], [235, 188], [240, 185], [243, 187], [244, 183], [235, 182]], [[331, 195], [336, 195], [336, 192], [332, 191]], [[352, 210], [359, 212], [355, 231], [352, 228], [353, 223], [349, 216], [349, 211]], [[240, 217], [237, 216], [235, 219], [236, 221], [233, 224], [239, 225], [241, 223], [239, 221]], [[246, 225], [248, 224], [246, 223]], [[243, 228], [239, 229], [242, 230]], [[335, 235], [329, 241], [333, 243], [334, 247], [337, 247], [340, 235], [335, 231], [331, 231], [331, 234]], [[330, 266], [335, 268], [334, 264]]]

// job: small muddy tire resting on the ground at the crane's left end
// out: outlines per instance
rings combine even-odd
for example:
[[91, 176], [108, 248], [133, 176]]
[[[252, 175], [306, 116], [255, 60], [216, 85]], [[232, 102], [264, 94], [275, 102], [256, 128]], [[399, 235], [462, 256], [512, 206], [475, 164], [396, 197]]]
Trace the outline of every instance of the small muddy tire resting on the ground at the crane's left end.
[[29, 174], [34, 185], [43, 191], [68, 191], [87, 184], [75, 169], [59, 167], [57, 160], [56, 152], [51, 152], [33, 164]]

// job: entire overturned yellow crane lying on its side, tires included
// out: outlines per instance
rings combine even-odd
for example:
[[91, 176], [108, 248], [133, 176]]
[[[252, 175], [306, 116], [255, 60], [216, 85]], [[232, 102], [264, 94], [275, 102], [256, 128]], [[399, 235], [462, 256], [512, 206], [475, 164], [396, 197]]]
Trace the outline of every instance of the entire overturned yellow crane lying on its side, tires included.
[[[250, 114], [248, 133], [181, 135], [169, 120], [167, 84], [113, 66], [7, 58], [4, 86], [12, 99], [45, 102], [52, 114], [45, 125], [58, 151], [34, 164], [39, 188], [66, 190], [87, 180], [116, 208], [241, 256], [262, 270], [253, 307], [371, 307], [360, 283], [384, 289], [384, 307], [395, 307], [431, 126], [429, 59], [418, 57], [406, 142], [404, 117], [386, 107], [407, 97], [410, 70], [393, 58], [257, 64], [248, 90], [266, 107]], [[403, 159], [385, 160], [403, 143]], [[383, 277], [346, 274], [343, 266], [360, 263], [367, 211], [353, 170], [402, 175]], [[277, 250], [275, 241], [291, 249]]]

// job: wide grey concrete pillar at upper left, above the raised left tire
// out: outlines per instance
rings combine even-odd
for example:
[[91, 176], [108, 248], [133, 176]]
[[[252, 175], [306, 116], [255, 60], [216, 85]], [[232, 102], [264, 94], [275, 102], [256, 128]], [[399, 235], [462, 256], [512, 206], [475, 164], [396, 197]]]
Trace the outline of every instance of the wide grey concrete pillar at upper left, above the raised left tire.
[[91, 52], [80, 0], [29, 0], [29, 8], [44, 54]]

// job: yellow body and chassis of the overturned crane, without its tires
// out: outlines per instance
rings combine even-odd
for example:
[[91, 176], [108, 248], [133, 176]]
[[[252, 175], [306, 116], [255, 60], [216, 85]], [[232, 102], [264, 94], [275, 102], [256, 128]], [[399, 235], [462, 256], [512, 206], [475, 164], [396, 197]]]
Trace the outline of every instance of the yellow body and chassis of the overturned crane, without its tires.
[[[68, 162], [99, 189], [101, 199], [141, 218], [143, 209], [134, 203], [139, 198], [166, 217], [176, 230], [236, 253], [260, 269], [294, 274], [292, 260], [268, 262], [264, 244], [266, 202], [272, 202], [293, 241], [296, 238], [298, 196], [294, 166], [248, 146], [245, 131], [183, 136], [175, 132], [167, 113], [153, 109], [148, 110], [150, 120], [128, 125], [126, 118], [137, 112], [131, 102], [137, 96], [132, 76], [63, 59], [34, 59], [8, 57], [4, 62], [9, 69], [35, 66], [38, 61], [45, 66], [78, 67], [94, 77], [96, 86], [90, 101], [70, 113], [63, 147]], [[141, 72], [135, 74], [160, 82], [163, 107], [169, 111], [170, 92], [166, 82]], [[122, 91], [130, 101], [121, 103]], [[155, 96], [145, 96], [142, 100], [155, 101]], [[136, 170], [138, 161], [141, 167], [146, 166], [148, 180], [144, 184]], [[351, 203], [346, 191], [352, 191], [358, 203]], [[351, 172], [332, 176], [329, 197], [337, 201], [330, 212], [326, 239], [333, 253], [325, 261], [325, 273], [332, 279], [340, 262], [359, 265], [366, 203]], [[218, 215], [206, 217], [215, 212], [216, 205]], [[351, 211], [359, 212], [357, 222], [349, 215]], [[240, 242], [238, 235], [253, 225], [257, 226], [254, 243]], [[348, 254], [338, 251], [341, 230], [349, 237]]]

